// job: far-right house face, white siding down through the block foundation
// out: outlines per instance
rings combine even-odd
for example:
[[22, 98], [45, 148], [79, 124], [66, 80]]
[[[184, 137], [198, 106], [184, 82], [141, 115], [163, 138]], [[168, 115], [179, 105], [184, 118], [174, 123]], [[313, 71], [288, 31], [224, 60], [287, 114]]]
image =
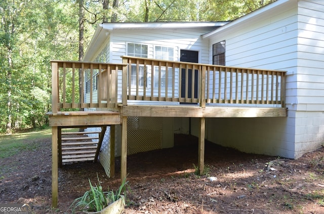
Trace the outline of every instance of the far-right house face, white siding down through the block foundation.
[[324, 142], [324, 2], [298, 2], [295, 155]]

